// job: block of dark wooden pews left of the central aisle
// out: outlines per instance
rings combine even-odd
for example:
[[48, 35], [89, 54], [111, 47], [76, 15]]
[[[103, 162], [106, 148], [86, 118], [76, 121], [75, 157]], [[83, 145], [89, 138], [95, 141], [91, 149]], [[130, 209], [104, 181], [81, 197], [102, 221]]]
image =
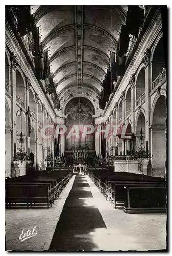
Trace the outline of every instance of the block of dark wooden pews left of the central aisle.
[[71, 169], [39, 171], [6, 179], [6, 208], [46, 205], [52, 207], [72, 176]]

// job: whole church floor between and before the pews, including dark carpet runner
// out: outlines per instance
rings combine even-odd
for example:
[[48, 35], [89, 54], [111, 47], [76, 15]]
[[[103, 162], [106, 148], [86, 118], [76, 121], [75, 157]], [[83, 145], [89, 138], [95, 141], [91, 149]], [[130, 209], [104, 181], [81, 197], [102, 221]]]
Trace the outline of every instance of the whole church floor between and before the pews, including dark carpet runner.
[[[21, 231], [37, 235], [19, 241]], [[6, 210], [7, 250], [162, 250], [165, 214], [125, 214], [111, 207], [88, 175], [73, 175], [53, 207]]]

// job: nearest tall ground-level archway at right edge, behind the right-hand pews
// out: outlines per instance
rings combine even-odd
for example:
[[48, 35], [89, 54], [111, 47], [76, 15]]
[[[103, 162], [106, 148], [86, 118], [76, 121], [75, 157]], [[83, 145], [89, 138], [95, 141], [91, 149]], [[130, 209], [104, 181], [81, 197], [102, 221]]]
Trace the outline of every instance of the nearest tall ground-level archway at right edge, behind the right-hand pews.
[[166, 98], [160, 96], [153, 112], [152, 125], [152, 175], [164, 177], [166, 161]]

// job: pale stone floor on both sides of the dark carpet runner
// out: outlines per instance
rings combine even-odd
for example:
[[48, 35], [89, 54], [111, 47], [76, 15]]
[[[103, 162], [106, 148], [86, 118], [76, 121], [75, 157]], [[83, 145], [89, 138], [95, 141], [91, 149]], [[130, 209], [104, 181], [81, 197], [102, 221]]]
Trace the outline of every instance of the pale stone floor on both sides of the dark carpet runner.
[[[85, 198], [84, 205], [97, 207], [106, 224], [106, 228], [97, 228], [89, 233], [95, 250], [128, 251], [128, 250], [162, 250], [166, 248], [166, 215], [165, 214], [125, 214], [114, 209], [105, 200], [88, 176], [89, 186], [83, 187], [91, 191], [93, 198]], [[50, 209], [7, 209], [6, 241], [7, 250], [47, 250], [60, 218], [63, 205], [73, 185], [73, 176], [59, 199]], [[20, 242], [22, 229], [32, 230], [36, 226], [37, 235]]]

